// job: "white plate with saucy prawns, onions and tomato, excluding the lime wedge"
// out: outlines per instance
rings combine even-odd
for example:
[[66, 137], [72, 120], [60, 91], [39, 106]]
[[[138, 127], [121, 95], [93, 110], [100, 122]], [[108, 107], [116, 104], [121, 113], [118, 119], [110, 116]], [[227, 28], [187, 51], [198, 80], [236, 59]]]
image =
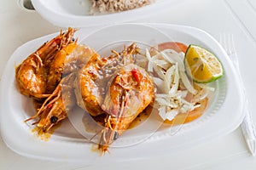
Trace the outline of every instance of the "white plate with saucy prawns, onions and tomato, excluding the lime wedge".
[[[218, 55], [224, 77], [193, 82], [183, 62], [191, 43]], [[40, 159], [154, 156], [235, 129], [242, 117], [237, 81], [218, 42], [195, 28], [122, 24], [90, 34], [68, 28], [26, 42], [9, 59], [1, 82], [1, 132], [10, 149]], [[236, 113], [234, 95], [241, 104]]]

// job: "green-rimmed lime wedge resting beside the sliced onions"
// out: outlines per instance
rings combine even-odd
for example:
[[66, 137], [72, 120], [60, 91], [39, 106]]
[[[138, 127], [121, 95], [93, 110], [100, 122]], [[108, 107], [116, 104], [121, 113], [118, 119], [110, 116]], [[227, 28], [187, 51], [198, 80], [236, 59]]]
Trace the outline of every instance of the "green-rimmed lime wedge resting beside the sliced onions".
[[193, 44], [189, 45], [184, 62], [187, 72], [195, 82], [213, 82], [224, 74], [224, 69], [214, 54]]

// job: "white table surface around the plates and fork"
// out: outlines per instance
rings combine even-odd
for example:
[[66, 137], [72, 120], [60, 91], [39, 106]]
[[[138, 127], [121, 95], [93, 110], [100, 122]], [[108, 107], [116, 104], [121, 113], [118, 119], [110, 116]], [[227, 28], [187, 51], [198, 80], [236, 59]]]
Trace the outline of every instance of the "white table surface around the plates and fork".
[[[25, 42], [60, 30], [44, 20], [36, 11], [20, 8], [18, 0], [2, 0], [0, 6], [0, 75], [9, 57]], [[136, 22], [171, 23], [195, 26], [210, 33], [217, 40], [221, 33], [234, 34], [236, 49], [245, 83], [249, 109], [256, 112], [256, 77], [253, 66], [256, 58], [256, 1], [255, 0], [183, 0], [168, 10], [151, 14]], [[1, 79], [0, 79], [1, 81]], [[1, 94], [0, 94], [1, 95]], [[1, 113], [0, 113], [1, 114]], [[253, 122], [256, 115], [253, 114]], [[138, 161], [108, 165], [112, 169], [255, 169], [256, 157], [251, 156], [242, 137], [241, 128], [212, 139], [189, 150], [155, 156]], [[101, 169], [101, 165], [84, 166], [69, 162], [40, 161], [17, 155], [0, 139], [0, 169]]]

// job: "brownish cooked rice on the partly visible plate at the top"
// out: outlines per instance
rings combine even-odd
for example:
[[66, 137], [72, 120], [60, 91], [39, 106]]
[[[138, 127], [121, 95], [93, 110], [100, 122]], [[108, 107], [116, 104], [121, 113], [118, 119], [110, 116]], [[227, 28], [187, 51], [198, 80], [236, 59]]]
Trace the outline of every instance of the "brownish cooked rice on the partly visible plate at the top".
[[100, 13], [119, 12], [140, 8], [154, 3], [154, 0], [90, 0], [90, 2], [92, 4], [90, 12], [95, 14], [96, 11]]

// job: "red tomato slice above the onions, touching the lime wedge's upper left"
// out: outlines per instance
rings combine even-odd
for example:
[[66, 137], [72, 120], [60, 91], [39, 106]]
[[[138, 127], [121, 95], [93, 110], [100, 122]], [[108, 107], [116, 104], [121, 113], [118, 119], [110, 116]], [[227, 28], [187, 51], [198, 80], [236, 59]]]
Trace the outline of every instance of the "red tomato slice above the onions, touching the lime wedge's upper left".
[[188, 46], [183, 44], [182, 42], [163, 42], [158, 44], [158, 49], [160, 51], [164, 49], [173, 49], [177, 53], [183, 52], [186, 53]]

